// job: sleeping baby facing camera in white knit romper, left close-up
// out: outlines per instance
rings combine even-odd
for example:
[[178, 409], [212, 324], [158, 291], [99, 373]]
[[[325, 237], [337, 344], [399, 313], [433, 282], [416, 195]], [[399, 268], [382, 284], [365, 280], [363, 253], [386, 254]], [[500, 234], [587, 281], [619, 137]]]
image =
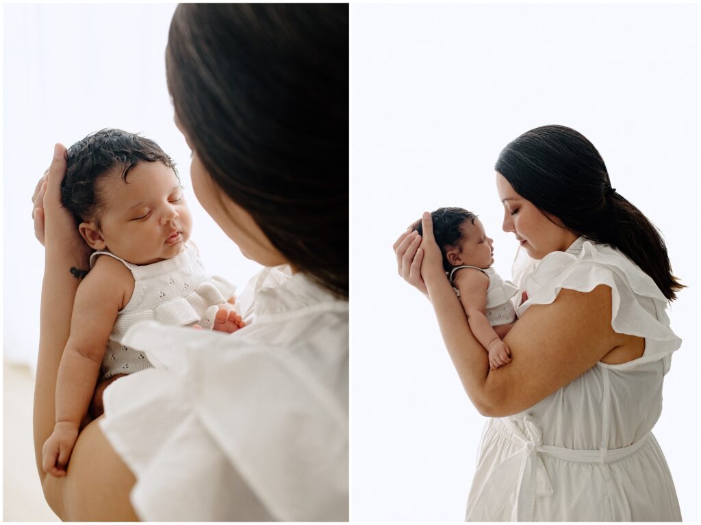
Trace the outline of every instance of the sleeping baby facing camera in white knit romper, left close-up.
[[[235, 332], [240, 315], [224, 308], [235, 287], [205, 272], [192, 219], [171, 158], [152, 140], [102, 130], [68, 150], [62, 204], [95, 250], [76, 291], [71, 330], [56, 385], [56, 425], [43, 446], [43, 470], [65, 475], [81, 421], [111, 381], [151, 367], [121, 343], [142, 320]], [[220, 311], [220, 308], [222, 311]]]

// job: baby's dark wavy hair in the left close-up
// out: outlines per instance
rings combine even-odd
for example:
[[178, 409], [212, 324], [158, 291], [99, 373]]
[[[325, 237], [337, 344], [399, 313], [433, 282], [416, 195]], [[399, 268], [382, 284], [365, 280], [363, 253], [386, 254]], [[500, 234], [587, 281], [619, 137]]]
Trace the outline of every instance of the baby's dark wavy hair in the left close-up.
[[67, 172], [61, 182], [61, 203], [76, 218], [76, 224], [94, 219], [100, 228], [102, 192], [97, 182], [121, 170], [127, 175], [139, 162], [162, 162], [175, 172], [175, 163], [151, 139], [135, 133], [109, 129], [90, 133], [68, 149]]

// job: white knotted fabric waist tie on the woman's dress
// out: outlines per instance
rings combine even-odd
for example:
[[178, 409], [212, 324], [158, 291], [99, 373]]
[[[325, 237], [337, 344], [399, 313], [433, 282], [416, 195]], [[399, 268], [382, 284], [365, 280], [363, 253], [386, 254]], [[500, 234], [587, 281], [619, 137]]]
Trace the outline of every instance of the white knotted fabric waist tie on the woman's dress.
[[[512, 513], [513, 521], [533, 521], [536, 497], [552, 495], [552, 484], [550, 484], [550, 479], [547, 477], [547, 470], [545, 470], [541, 454], [576, 463], [599, 463], [604, 471], [604, 479], [606, 479], [608, 488], [613, 489], [611, 473], [608, 470], [609, 463], [619, 461], [633, 454], [643, 446], [650, 435], [648, 433], [634, 444], [624, 446], [621, 449], [565, 449], [561, 446], [544, 445], [543, 434], [540, 432], [538, 425], [528, 416], [522, 421], [524, 423], [524, 431], [509, 419], [500, 418], [495, 421], [498, 430], [503, 435], [522, 447], [522, 451], [519, 453], [521, 456], [521, 467], [516, 488], [516, 503]], [[508, 458], [505, 463], [518, 461], [519, 454]], [[500, 466], [505, 467], [506, 465]]]

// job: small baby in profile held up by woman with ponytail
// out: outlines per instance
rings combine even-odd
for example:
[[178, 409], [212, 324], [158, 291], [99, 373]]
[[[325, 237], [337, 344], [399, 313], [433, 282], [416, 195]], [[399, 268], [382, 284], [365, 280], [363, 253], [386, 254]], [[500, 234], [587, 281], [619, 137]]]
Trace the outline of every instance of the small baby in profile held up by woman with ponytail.
[[[460, 298], [472, 334], [489, 353], [492, 370], [511, 361], [511, 350], [502, 338], [516, 320], [512, 296], [517, 288], [504, 281], [494, 268], [491, 238], [477, 215], [459, 207], [442, 207], [431, 213], [433, 235], [443, 254], [443, 268], [451, 285], [456, 273], [461, 280]], [[421, 221], [414, 230], [423, 233]]]

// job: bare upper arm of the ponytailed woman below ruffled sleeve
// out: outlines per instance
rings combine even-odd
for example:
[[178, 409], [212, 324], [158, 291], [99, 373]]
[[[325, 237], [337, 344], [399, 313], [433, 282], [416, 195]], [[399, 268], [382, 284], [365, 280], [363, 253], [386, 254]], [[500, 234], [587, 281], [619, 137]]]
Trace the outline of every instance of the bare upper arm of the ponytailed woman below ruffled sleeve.
[[621, 335], [611, 327], [611, 288], [562, 289], [555, 301], [533, 305], [504, 342], [512, 362], [490, 371], [484, 401], [489, 416], [532, 407], [597, 364]]

